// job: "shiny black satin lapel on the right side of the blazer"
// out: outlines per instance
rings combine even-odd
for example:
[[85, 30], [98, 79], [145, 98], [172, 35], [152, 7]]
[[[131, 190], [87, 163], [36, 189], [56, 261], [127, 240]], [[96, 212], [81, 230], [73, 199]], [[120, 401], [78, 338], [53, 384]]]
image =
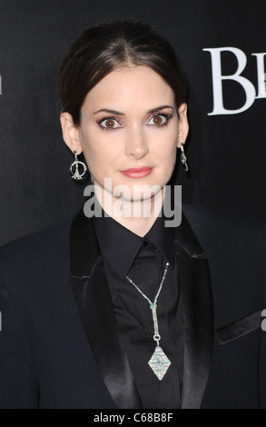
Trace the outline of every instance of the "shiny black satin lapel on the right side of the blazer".
[[182, 409], [201, 407], [212, 360], [212, 284], [208, 260], [187, 220], [174, 230], [184, 311]]

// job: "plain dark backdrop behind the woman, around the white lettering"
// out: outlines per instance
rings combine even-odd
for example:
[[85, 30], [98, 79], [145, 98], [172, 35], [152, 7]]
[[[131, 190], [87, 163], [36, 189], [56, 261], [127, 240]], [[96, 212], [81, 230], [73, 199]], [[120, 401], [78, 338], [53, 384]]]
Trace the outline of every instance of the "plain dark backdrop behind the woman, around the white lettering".
[[[176, 49], [190, 85], [191, 173], [182, 168], [183, 201], [266, 220], [266, 98], [241, 114], [212, 112], [212, 63], [204, 48], [233, 46], [248, 58], [243, 75], [257, 90], [256, 58], [266, 52], [265, 0], [1, 0], [0, 244], [32, 233], [84, 204], [84, 185], [68, 174], [57, 75], [85, 27], [118, 16], [156, 25]], [[224, 55], [224, 74], [236, 64]], [[224, 84], [225, 105], [245, 97]]]

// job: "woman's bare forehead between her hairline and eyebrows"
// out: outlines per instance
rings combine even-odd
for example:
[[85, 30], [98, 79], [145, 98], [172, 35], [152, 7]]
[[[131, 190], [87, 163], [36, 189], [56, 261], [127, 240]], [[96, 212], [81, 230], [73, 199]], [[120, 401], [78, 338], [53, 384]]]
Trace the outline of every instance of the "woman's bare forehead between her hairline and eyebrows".
[[172, 88], [151, 68], [137, 65], [123, 67], [107, 74], [87, 94], [84, 109], [113, 108], [152, 109], [174, 103]]

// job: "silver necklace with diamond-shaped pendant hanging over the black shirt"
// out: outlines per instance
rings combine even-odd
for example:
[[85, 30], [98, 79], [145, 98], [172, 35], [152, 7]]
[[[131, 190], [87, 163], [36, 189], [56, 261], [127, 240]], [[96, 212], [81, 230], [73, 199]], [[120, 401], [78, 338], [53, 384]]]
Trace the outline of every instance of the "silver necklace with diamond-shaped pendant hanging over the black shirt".
[[147, 295], [145, 295], [145, 293], [143, 293], [143, 291], [140, 290], [140, 288], [133, 283], [133, 280], [131, 280], [128, 276], [125, 276], [125, 278], [133, 284], [134, 288], [141, 293], [141, 295], [143, 295], [143, 298], [145, 298], [145, 300], [148, 301], [148, 303], [150, 304], [150, 309], [153, 312], [153, 326], [154, 326], [154, 335], [153, 335], [153, 340], [157, 343], [156, 347], [155, 347], [155, 351], [153, 353], [153, 356], [151, 357], [150, 361], [148, 362], [149, 366], [153, 369], [153, 372], [155, 373], [155, 375], [157, 376], [157, 378], [159, 378], [159, 380], [163, 380], [163, 377], [165, 375], [165, 373], [167, 372], [169, 366], [171, 365], [170, 360], [168, 359], [168, 357], [166, 356], [165, 353], [163, 353], [163, 349], [162, 347], [160, 347], [160, 340], [161, 340], [161, 335], [159, 333], [159, 327], [158, 327], [158, 319], [157, 319], [157, 299], [162, 291], [163, 288], [163, 282], [168, 270], [168, 266], [169, 263], [166, 263], [165, 265], [165, 269], [164, 269], [164, 273], [163, 273], [163, 279], [162, 282], [160, 283], [158, 292], [156, 293], [156, 296], [154, 298], [154, 301], [152, 303], [152, 301], [147, 297]]

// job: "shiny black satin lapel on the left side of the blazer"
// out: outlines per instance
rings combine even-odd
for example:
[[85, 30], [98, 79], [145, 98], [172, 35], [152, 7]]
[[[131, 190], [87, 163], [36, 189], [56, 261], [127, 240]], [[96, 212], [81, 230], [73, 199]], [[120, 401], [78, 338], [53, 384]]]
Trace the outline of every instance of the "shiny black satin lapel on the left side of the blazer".
[[74, 299], [84, 330], [113, 401], [120, 409], [142, 408], [117, 330], [93, 220], [83, 212], [72, 224], [71, 272]]

